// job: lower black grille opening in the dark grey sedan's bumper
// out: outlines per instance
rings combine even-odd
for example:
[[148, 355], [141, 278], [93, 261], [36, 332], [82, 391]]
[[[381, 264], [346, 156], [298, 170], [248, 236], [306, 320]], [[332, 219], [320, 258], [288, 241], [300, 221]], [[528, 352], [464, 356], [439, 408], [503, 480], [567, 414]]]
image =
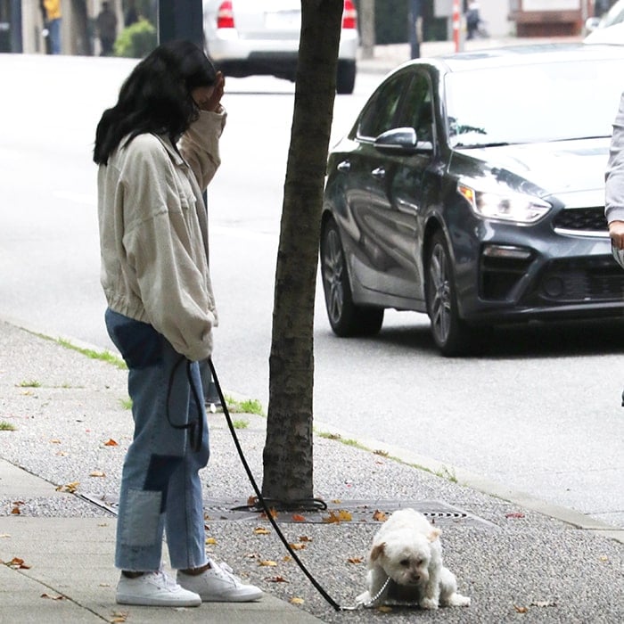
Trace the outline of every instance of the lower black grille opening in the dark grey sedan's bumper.
[[558, 303], [620, 300], [624, 298], [624, 271], [611, 256], [556, 260], [541, 275], [542, 299]]

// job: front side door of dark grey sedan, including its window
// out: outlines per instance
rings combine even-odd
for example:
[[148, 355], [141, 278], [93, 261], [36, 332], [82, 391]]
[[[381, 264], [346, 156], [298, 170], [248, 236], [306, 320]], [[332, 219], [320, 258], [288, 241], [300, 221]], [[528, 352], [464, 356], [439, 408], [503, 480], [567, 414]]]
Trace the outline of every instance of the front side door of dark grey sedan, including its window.
[[425, 170], [433, 157], [431, 80], [424, 71], [409, 68], [388, 84], [380, 98], [391, 114], [384, 123], [380, 116], [371, 123], [364, 118], [358, 128], [360, 137], [377, 138], [388, 130], [407, 127], [415, 130], [418, 141], [414, 151], [388, 150], [363, 141], [360, 166], [361, 179], [366, 180], [366, 205], [359, 210], [361, 246], [375, 269], [367, 285], [410, 300], [406, 305], [411, 305], [423, 297], [423, 275], [417, 261], [418, 216]]

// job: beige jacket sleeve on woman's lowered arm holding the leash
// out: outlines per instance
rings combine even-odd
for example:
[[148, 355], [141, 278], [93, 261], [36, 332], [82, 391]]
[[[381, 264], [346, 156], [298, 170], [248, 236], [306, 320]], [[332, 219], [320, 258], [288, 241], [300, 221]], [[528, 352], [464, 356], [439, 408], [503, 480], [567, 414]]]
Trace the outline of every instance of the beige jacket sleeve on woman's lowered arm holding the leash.
[[123, 175], [123, 203], [133, 214], [123, 237], [127, 262], [148, 322], [178, 353], [192, 361], [205, 359], [217, 323], [205, 278], [208, 268], [203, 266], [207, 260], [203, 254], [193, 259], [188, 251], [189, 238], [200, 235], [193, 233], [188, 214], [194, 208], [185, 205], [164, 148], [156, 140], [146, 144], [142, 137], [135, 143]]

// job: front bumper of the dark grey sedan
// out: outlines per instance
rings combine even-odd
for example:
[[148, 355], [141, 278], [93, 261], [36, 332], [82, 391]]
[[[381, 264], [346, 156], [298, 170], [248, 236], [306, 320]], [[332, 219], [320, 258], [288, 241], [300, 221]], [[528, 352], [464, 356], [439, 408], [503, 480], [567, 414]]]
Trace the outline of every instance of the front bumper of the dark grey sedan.
[[[624, 271], [604, 235], [560, 235], [550, 225], [527, 237], [518, 226], [455, 245], [460, 314], [472, 323], [621, 316]], [[527, 242], [530, 240], [530, 245]], [[466, 261], [462, 261], [462, 258]]]

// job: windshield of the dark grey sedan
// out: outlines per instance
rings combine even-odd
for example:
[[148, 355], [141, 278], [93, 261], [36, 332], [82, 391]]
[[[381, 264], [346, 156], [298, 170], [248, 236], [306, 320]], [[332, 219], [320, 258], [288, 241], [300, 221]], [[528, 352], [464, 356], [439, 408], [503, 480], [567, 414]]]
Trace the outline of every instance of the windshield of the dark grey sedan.
[[624, 59], [549, 62], [447, 74], [453, 147], [611, 136]]

